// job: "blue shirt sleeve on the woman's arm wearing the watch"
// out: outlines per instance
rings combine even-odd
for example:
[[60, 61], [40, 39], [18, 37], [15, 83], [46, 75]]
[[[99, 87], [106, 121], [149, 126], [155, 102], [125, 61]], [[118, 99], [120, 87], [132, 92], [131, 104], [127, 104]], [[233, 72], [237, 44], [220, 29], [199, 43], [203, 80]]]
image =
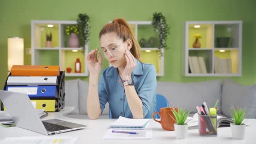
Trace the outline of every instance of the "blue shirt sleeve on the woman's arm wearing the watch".
[[146, 72], [146, 77], [142, 86], [138, 89], [138, 96], [142, 101], [143, 117], [145, 118], [149, 111], [155, 110], [155, 91], [156, 91], [156, 70], [154, 65]]

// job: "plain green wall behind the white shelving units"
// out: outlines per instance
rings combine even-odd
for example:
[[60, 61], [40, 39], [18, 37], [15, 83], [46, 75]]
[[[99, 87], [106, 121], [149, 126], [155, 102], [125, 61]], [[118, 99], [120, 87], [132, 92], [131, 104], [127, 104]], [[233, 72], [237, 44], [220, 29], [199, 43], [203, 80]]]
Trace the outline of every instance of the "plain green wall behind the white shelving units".
[[[166, 16], [171, 34], [165, 52], [165, 76], [159, 81], [193, 82], [218, 79], [219, 77], [185, 77], [182, 75], [181, 52], [183, 47], [185, 21], [242, 20], [242, 76], [231, 77], [243, 84], [256, 83], [256, 1], [216, 0], [216, 1], [67, 1], [67, 0], [3, 0], [0, 4], [0, 88], [7, 76], [7, 38], [24, 38], [25, 48], [31, 47], [31, 20], [76, 20], [78, 13], [91, 17], [90, 47], [100, 47], [98, 33], [104, 24], [117, 17], [128, 21], [152, 20], [154, 12]], [[25, 55], [25, 64], [31, 64], [31, 55]], [[104, 62], [104, 67], [107, 67]], [[78, 77], [67, 77], [75, 79]], [[88, 80], [88, 77], [79, 77]], [[225, 78], [225, 77], [220, 77]]]

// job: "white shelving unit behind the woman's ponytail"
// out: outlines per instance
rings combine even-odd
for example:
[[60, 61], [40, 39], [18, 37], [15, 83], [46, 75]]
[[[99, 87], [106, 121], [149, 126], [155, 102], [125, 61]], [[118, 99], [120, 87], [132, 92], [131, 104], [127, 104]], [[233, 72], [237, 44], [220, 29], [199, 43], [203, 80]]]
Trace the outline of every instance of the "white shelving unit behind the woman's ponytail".
[[[152, 21], [127, 21], [127, 23], [141, 46], [142, 63], [153, 64], [156, 76], [164, 76], [164, 49], [161, 49], [161, 52], [158, 50], [159, 37], [158, 33], [154, 32]], [[145, 41], [144, 44], [141, 43], [142, 39]]]

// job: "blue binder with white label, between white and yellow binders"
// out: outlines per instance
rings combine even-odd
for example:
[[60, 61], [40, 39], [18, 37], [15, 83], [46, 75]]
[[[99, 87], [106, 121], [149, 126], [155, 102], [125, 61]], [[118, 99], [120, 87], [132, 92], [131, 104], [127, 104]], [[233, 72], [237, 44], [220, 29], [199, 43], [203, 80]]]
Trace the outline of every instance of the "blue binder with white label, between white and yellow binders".
[[58, 97], [56, 86], [7, 86], [6, 91], [24, 92], [30, 99]]

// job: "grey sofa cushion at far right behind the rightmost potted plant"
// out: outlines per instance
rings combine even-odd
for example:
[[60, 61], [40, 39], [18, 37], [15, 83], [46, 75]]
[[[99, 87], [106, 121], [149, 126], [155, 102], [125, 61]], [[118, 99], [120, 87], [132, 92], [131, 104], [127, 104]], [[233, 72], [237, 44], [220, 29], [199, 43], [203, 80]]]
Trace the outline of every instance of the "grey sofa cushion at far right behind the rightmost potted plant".
[[256, 118], [256, 85], [242, 86], [225, 79], [222, 91], [222, 112], [231, 117], [230, 106], [247, 107], [248, 118]]

